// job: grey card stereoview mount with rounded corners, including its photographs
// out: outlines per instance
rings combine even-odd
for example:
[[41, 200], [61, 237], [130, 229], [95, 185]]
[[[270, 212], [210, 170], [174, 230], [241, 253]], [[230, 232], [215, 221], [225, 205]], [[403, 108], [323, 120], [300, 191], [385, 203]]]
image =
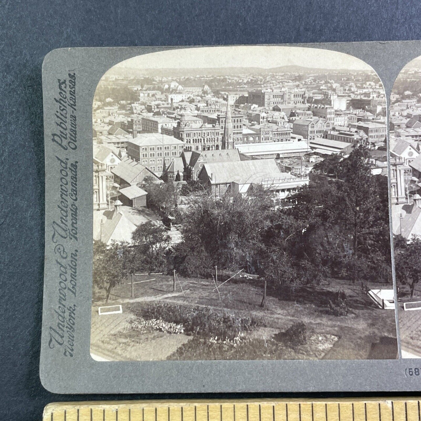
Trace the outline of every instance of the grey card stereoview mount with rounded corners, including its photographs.
[[51, 51], [44, 386], [419, 390], [420, 56]]

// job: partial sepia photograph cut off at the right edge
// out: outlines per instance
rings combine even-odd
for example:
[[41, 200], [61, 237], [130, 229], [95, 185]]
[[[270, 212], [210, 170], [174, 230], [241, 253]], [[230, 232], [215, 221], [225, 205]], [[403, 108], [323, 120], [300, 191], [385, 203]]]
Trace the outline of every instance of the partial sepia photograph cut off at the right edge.
[[390, 96], [390, 184], [398, 319], [403, 358], [421, 358], [421, 57]]

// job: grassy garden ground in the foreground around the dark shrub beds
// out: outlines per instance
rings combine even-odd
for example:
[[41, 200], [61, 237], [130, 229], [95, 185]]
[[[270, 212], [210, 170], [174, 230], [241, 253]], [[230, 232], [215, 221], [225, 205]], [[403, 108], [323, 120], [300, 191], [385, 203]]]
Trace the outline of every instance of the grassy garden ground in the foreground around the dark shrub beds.
[[[152, 278], [155, 280], [139, 282]], [[221, 338], [212, 341], [208, 337], [191, 333], [188, 333], [191, 336], [187, 336], [186, 333], [164, 332], [155, 332], [155, 336], [153, 333], [136, 335], [136, 332], [128, 332], [123, 327], [109, 333], [102, 329], [99, 344], [99, 339], [95, 339], [95, 332], [104, 322], [94, 316], [97, 306], [104, 301], [98, 300], [93, 303], [91, 332], [91, 343], [97, 353], [101, 354], [101, 349], [104, 349], [104, 352], [107, 349], [108, 352], [112, 350], [114, 359], [121, 360], [143, 360], [150, 359], [151, 356], [155, 359], [177, 360], [367, 359], [373, 343], [383, 337], [396, 338], [394, 312], [374, 306], [361, 290], [361, 285], [353, 285], [346, 280], [332, 279], [326, 285], [285, 290], [282, 295], [268, 290], [265, 309], [260, 307], [263, 285], [259, 285], [261, 281], [258, 280], [229, 281], [221, 285], [221, 299], [214, 290], [212, 279], [180, 277], [179, 280], [176, 279], [175, 291], [172, 276], [136, 276], [135, 282], [139, 283], [134, 284], [134, 298], [131, 298], [130, 280], [118, 285], [110, 297], [109, 305], [122, 304], [123, 315], [126, 318], [133, 317], [133, 314], [139, 317], [141, 309], [150, 303], [159, 302], [185, 308], [186, 313], [202, 307], [221, 314], [221, 317], [224, 314], [228, 315], [234, 320], [238, 317], [252, 317], [258, 320], [258, 327], [244, 332], [242, 340], [237, 344], [223, 343]], [[374, 283], [369, 287], [391, 288], [385, 284]], [[336, 317], [328, 312], [328, 297], [338, 290], [346, 293], [346, 303], [350, 309], [348, 316]], [[274, 339], [276, 333], [285, 331], [296, 322], [304, 322], [306, 325], [305, 345], [291, 348]], [[182, 339], [180, 343], [176, 337]], [[106, 343], [110, 345], [106, 346]], [[141, 347], [142, 352], [133, 352], [133, 349], [136, 349], [134, 345]], [[160, 351], [154, 355], [152, 349], [157, 347]], [[147, 358], [144, 358], [145, 356]]]

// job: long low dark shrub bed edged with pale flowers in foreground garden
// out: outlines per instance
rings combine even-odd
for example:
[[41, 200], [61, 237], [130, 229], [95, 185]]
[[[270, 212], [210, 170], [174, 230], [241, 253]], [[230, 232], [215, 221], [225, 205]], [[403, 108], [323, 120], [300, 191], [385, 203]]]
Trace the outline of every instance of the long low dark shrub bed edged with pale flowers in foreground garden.
[[251, 316], [239, 316], [222, 309], [187, 307], [159, 301], [133, 306], [131, 311], [147, 320], [163, 320], [182, 325], [186, 333], [223, 340], [233, 340], [240, 332], [253, 330], [259, 325]]

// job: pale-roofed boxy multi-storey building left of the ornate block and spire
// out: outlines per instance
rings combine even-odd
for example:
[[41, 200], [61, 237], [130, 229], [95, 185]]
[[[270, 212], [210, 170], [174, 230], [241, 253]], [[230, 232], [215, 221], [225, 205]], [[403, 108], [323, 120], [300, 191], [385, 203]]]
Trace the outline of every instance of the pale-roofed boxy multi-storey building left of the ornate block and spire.
[[158, 133], [141, 133], [127, 142], [127, 155], [161, 176], [164, 167], [179, 157], [184, 141]]

